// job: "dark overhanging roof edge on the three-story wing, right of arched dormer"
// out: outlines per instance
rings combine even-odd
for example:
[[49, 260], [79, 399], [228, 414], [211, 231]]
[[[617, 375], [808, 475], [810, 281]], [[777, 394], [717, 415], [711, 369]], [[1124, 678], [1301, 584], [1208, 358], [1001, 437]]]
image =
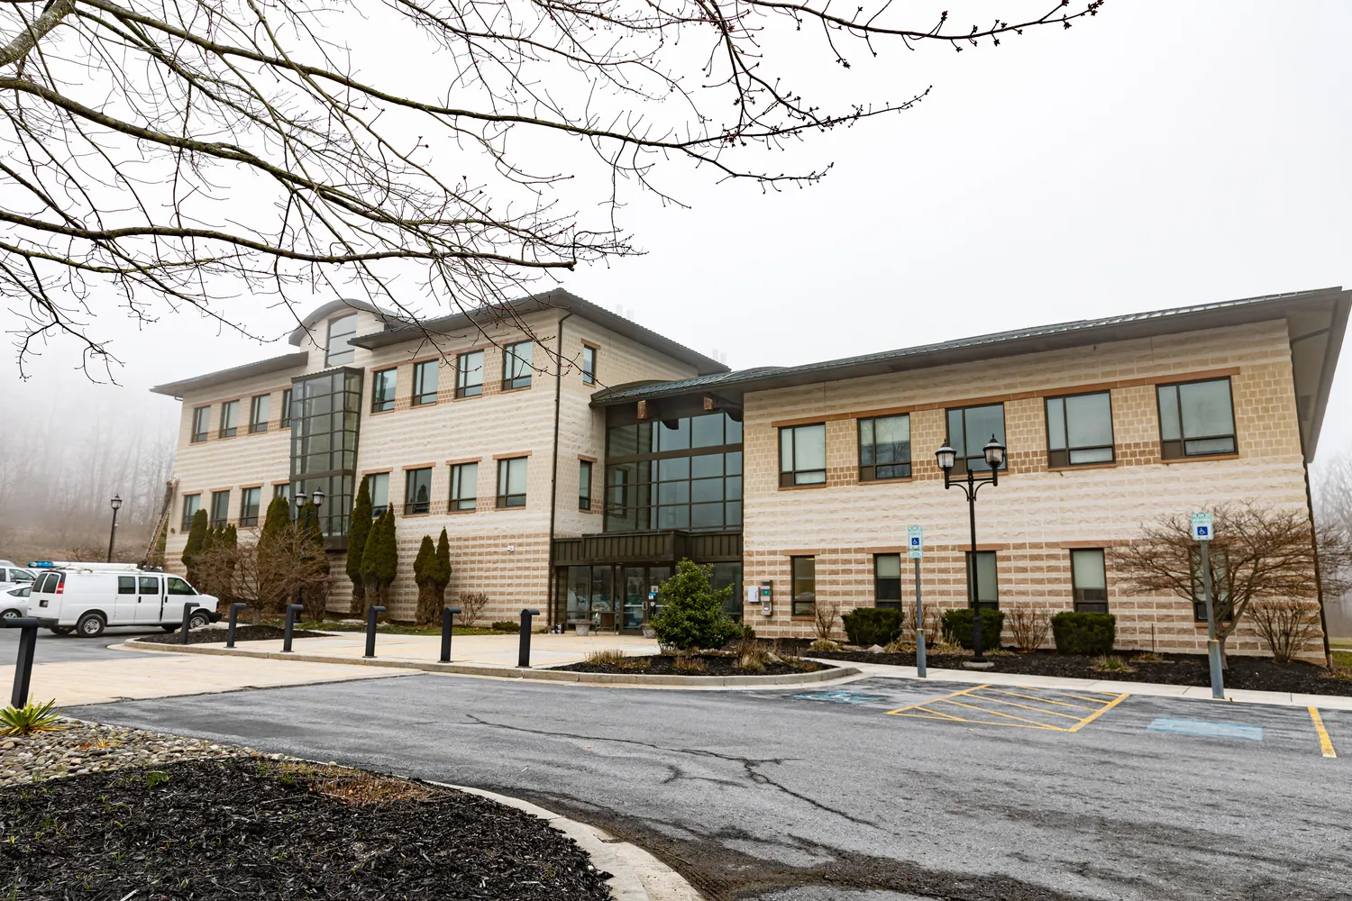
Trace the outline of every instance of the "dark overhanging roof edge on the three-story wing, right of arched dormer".
[[[492, 323], [502, 319], [504, 315], [521, 316], [545, 309], [576, 313], [583, 319], [608, 328], [617, 335], [623, 335], [625, 338], [644, 344], [645, 347], [650, 347], [667, 354], [668, 357], [679, 359], [683, 363], [688, 363], [694, 366], [695, 371], [700, 376], [729, 371], [727, 366], [717, 359], [691, 350], [671, 338], [658, 335], [650, 328], [644, 328], [638, 323], [625, 319], [604, 307], [598, 307], [589, 300], [583, 300], [577, 294], [569, 293], [562, 288], [545, 292], [542, 294], [531, 294], [530, 297], [522, 297], [519, 300], [481, 307], [469, 312], [442, 316], [439, 319], [429, 319], [419, 323], [399, 321], [393, 316], [389, 316], [385, 320], [385, 328], [383, 331], [373, 332], [370, 335], [357, 335], [347, 343], [357, 347], [365, 347], [366, 350], [375, 350], [376, 347], [388, 347], [389, 344], [397, 344], [406, 340], [415, 340], [427, 332], [435, 334], [457, 331], [466, 326], [483, 326]], [[385, 315], [388, 316], [388, 313]]]

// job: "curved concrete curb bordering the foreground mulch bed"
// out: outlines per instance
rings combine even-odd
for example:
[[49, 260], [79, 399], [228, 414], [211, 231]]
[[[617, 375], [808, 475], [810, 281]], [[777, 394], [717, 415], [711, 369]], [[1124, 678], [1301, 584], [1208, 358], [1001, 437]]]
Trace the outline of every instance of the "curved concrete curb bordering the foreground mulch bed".
[[472, 789], [465, 785], [450, 785], [448, 782], [431, 782], [430, 779], [425, 781], [430, 785], [439, 785], [464, 792], [465, 794], [477, 794], [489, 801], [496, 801], [503, 806], [525, 810], [546, 821], [576, 842], [577, 847], [591, 856], [592, 866], [610, 873], [606, 883], [610, 886], [615, 901], [702, 901], [703, 898], [702, 894], [669, 866], [638, 846], [621, 842], [604, 829], [579, 823], [577, 820], [569, 820], [530, 801], [498, 794], [496, 792]]

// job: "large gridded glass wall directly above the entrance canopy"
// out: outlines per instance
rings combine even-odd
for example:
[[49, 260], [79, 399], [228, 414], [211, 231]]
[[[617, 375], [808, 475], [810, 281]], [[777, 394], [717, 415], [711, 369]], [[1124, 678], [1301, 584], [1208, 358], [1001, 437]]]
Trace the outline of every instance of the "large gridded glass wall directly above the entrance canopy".
[[741, 525], [740, 419], [717, 412], [607, 430], [607, 532]]

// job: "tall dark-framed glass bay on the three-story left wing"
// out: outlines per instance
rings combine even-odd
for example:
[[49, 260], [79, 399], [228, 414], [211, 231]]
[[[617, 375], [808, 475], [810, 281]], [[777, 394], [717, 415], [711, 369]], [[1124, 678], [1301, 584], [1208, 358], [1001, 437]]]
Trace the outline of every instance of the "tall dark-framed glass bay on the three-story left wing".
[[320, 489], [320, 528], [324, 535], [346, 535], [357, 478], [361, 373], [296, 380], [291, 397], [291, 496]]

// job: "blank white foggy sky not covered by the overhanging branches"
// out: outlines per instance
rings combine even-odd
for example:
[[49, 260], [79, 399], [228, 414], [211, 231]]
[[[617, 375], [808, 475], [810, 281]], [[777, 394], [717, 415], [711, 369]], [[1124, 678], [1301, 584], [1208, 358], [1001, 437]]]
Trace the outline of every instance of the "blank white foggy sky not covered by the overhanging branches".
[[[763, 195], [673, 168], [690, 209], [623, 211], [646, 255], [562, 284], [733, 367], [1352, 284], [1352, 4], [1280, 9], [1110, 0], [1068, 32], [890, 53], [830, 85], [933, 93], [790, 154], [834, 161], [823, 182]], [[9, 417], [62, 404], [176, 421], [150, 385], [287, 353], [293, 323], [241, 304], [279, 339], [257, 344], [191, 313], [138, 330], [108, 309], [122, 384], [87, 384], [68, 346], [18, 384], [7, 355]], [[1321, 461], [1352, 444], [1349, 411], [1345, 355]]]

